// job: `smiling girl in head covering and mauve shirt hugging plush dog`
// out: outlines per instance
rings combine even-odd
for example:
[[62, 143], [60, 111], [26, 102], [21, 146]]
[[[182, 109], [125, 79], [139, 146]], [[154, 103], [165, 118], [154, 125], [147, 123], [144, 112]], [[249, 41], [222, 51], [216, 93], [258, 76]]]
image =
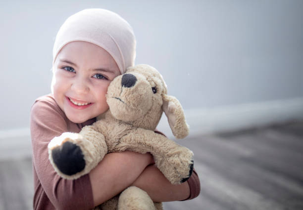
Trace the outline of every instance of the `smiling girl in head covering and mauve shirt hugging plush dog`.
[[130, 25], [104, 9], [80, 11], [59, 29], [53, 46], [51, 94], [38, 98], [31, 110], [34, 210], [92, 209], [131, 185], [145, 190], [155, 202], [199, 195], [195, 171], [187, 182], [172, 185], [153, 165], [151, 154], [107, 154], [76, 180], [61, 178], [49, 162], [48, 143], [53, 137], [79, 132], [108, 109], [107, 87], [134, 65], [135, 46]]

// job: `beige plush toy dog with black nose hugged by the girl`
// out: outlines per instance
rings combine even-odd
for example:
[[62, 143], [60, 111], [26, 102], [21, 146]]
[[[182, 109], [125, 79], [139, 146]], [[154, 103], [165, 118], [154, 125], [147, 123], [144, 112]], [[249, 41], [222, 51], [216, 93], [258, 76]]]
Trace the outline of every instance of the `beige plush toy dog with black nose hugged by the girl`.
[[[179, 101], [167, 95], [162, 76], [151, 66], [129, 67], [108, 86], [109, 110], [80, 133], [65, 132], [53, 138], [49, 158], [55, 171], [66, 179], [89, 173], [109, 152], [150, 152], [157, 168], [172, 184], [185, 182], [193, 171], [193, 152], [154, 132], [164, 111], [176, 138], [189, 133]], [[101, 205], [102, 210], [160, 210], [149, 195], [129, 187]]]

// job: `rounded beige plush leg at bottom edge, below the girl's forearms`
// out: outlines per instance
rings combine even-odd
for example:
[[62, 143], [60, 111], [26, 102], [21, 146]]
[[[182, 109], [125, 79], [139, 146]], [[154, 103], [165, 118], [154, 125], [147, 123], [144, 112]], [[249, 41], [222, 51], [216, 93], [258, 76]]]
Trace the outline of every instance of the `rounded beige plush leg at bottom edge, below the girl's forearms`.
[[[162, 205], [157, 204], [158, 208]], [[151, 197], [138, 187], [125, 189], [119, 197], [118, 210], [163, 210], [155, 207]]]

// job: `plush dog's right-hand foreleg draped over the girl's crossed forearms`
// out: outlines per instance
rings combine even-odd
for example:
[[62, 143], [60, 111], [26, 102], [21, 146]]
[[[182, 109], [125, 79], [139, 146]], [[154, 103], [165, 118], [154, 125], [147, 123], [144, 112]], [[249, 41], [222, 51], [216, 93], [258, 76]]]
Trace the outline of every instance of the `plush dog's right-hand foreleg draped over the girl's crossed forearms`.
[[155, 165], [172, 184], [185, 182], [193, 172], [193, 152], [152, 130], [137, 128], [120, 139], [121, 150], [150, 152]]

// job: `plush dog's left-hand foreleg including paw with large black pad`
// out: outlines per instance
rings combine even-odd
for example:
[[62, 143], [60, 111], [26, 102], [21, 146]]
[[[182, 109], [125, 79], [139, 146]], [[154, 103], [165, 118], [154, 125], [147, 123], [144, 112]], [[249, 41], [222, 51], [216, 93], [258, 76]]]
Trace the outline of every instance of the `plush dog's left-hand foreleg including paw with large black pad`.
[[107, 153], [104, 136], [93, 126], [84, 127], [80, 133], [62, 133], [50, 141], [48, 148], [52, 166], [66, 179], [89, 173]]

